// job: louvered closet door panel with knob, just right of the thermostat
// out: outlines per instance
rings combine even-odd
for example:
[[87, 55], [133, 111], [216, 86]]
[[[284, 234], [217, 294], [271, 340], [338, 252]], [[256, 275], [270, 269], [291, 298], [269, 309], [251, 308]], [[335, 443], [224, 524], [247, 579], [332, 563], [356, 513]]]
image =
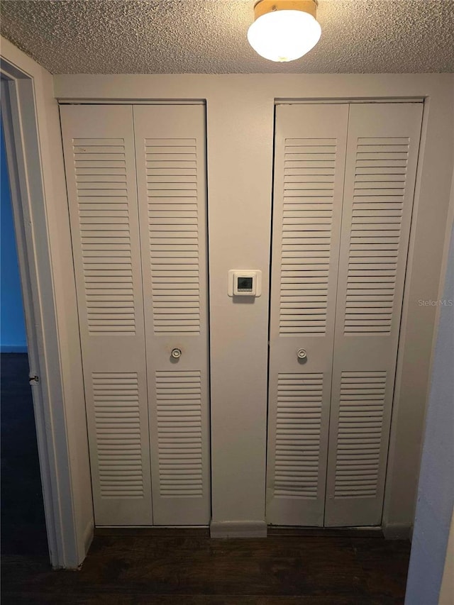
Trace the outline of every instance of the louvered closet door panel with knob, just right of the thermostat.
[[276, 112], [267, 522], [321, 526], [348, 106]]

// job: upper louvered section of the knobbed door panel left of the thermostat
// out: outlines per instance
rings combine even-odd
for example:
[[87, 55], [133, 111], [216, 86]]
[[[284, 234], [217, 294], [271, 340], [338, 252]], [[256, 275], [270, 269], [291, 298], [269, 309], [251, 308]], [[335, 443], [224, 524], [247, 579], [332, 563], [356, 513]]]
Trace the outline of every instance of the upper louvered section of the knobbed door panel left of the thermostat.
[[[146, 182], [155, 333], [200, 334], [196, 151], [195, 138], [145, 139], [145, 161], [153, 170], [146, 175]], [[177, 174], [178, 167], [188, 168], [185, 174]], [[168, 174], [169, 170], [172, 174]], [[164, 204], [163, 198], [167, 198]], [[178, 243], [180, 237], [184, 243]], [[167, 244], [169, 238], [175, 240], [172, 246]], [[188, 246], [192, 246], [190, 254]], [[180, 309], [187, 310], [183, 306], [187, 302], [191, 305], [190, 313], [164, 315], [155, 311], [155, 304], [172, 300], [183, 289], [187, 290], [186, 299], [180, 300]]]

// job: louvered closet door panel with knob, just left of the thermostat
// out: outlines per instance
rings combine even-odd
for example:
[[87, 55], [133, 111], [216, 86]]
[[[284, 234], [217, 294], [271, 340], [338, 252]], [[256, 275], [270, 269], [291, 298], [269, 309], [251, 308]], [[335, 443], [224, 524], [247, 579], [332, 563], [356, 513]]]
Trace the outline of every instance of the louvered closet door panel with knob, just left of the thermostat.
[[154, 523], [205, 525], [211, 494], [204, 107], [135, 106], [134, 128]]

